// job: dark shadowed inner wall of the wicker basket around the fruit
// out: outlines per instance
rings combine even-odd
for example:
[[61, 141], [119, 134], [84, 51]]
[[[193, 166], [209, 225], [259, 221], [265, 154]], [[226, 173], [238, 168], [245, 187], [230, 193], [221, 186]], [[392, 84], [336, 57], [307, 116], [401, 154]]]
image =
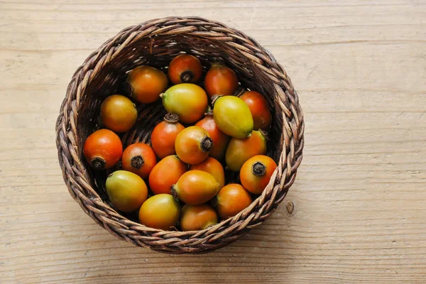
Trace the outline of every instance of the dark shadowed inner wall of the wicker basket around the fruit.
[[[231, 67], [239, 77], [239, 81], [243, 87], [256, 90], [265, 95], [268, 104], [273, 113], [273, 127], [268, 133], [268, 155], [276, 162], [280, 156], [280, 143], [278, 139], [281, 137], [282, 116], [275, 112], [273, 101], [273, 84], [270, 79], [265, 77], [262, 70], [254, 65], [250, 58], [243, 53], [231, 50], [228, 45], [224, 45], [219, 39], [200, 38], [191, 35], [157, 35], [151, 38], [141, 38], [126, 48], [120, 50], [119, 55], [110, 60], [102, 67], [95, 67], [95, 74], [88, 82], [82, 102], [81, 109], [77, 116], [77, 131], [80, 141], [78, 143], [78, 153], [82, 156], [82, 147], [84, 141], [93, 131], [101, 128], [99, 124], [99, 110], [102, 101], [111, 94], [129, 94], [126, 86], [126, 72], [129, 72], [138, 65], [151, 65], [157, 67], [167, 73], [168, 64], [180, 53], [189, 53], [200, 58], [203, 65], [203, 77], [207, 72], [210, 61], [219, 58], [226, 65]], [[116, 49], [119, 49], [117, 46]], [[107, 55], [106, 55], [107, 56]], [[263, 75], [263, 76], [262, 76]], [[161, 102], [150, 105], [136, 104], [138, 106], [138, 122], [133, 129], [127, 133], [120, 134], [124, 147], [136, 142], [149, 142], [150, 133], [158, 124], [165, 114], [165, 110]], [[278, 125], [277, 125], [278, 124]], [[274, 127], [277, 126], [277, 127]], [[108, 202], [108, 197], [104, 189], [104, 181], [112, 169], [107, 172], [96, 173], [87, 165], [88, 180], [94, 181], [94, 188], [102, 199]], [[236, 178], [235, 175], [227, 177], [229, 179]], [[131, 217], [130, 217], [131, 218]], [[133, 219], [133, 218], [131, 218]]]

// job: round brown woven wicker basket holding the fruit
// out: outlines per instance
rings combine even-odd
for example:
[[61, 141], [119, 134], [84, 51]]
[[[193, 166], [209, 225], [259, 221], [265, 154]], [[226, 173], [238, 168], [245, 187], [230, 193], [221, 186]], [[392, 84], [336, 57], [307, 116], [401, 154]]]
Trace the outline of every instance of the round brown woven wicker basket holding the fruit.
[[[124, 217], [104, 192], [106, 173], [95, 173], [84, 162], [85, 138], [99, 125], [105, 97], [126, 92], [126, 72], [138, 65], [168, 66], [185, 51], [203, 63], [221, 58], [236, 71], [241, 84], [266, 94], [273, 109], [268, 155], [278, 163], [263, 194], [250, 207], [203, 231], [162, 231]], [[148, 142], [164, 113], [161, 102], [138, 106], [138, 122], [122, 136], [124, 146]], [[107, 40], [78, 67], [68, 86], [56, 124], [58, 156], [70, 195], [100, 226], [119, 239], [165, 253], [201, 253], [230, 244], [268, 218], [293, 184], [302, 160], [303, 115], [290, 78], [273, 55], [256, 40], [223, 23], [198, 17], [170, 17], [130, 26]]]

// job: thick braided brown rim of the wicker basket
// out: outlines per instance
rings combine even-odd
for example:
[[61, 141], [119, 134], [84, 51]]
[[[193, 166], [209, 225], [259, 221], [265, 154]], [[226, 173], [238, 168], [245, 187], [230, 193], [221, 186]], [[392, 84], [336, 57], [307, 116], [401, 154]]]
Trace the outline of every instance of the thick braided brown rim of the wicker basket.
[[[229, 48], [233, 52], [241, 53], [250, 60], [253, 67], [261, 70], [261, 79], [268, 81], [275, 91], [271, 94], [271, 100], [275, 108], [275, 119], [280, 121], [279, 125], [273, 126], [278, 127], [281, 133], [278, 141], [275, 141], [281, 148], [275, 157], [278, 167], [266, 190], [248, 208], [235, 217], [202, 231], [162, 231], [123, 217], [99, 197], [81, 153], [84, 140], [78, 137], [77, 116], [85, 102], [87, 84], [96, 77], [102, 67], [121, 55], [127, 45], [155, 35], [192, 35], [203, 40], [221, 40], [226, 50]], [[199, 17], [170, 17], [125, 28], [89, 55], [77, 69], [67, 88], [56, 124], [56, 145], [62, 175], [70, 195], [100, 226], [119, 239], [155, 251], [200, 253], [230, 244], [271, 216], [295, 180], [302, 160], [303, 131], [303, 114], [297, 93], [283, 67], [268, 50], [262, 48], [253, 38], [228, 28], [223, 23]]]

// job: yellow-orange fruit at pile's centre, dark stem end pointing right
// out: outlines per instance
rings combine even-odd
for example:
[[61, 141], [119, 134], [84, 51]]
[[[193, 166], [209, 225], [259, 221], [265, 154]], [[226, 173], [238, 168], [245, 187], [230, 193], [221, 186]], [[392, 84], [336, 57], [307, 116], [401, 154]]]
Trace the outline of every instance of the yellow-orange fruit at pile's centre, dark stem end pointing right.
[[183, 129], [176, 137], [176, 154], [184, 163], [195, 165], [205, 160], [212, 150], [213, 141], [209, 133], [198, 126]]

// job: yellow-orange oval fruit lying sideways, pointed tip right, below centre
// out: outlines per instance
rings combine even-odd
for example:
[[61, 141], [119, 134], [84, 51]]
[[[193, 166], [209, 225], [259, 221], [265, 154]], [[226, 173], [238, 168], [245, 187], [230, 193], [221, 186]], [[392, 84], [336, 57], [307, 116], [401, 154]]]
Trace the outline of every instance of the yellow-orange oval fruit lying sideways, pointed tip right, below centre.
[[211, 200], [219, 187], [213, 175], [202, 170], [189, 170], [173, 185], [172, 194], [186, 204], [200, 205]]

